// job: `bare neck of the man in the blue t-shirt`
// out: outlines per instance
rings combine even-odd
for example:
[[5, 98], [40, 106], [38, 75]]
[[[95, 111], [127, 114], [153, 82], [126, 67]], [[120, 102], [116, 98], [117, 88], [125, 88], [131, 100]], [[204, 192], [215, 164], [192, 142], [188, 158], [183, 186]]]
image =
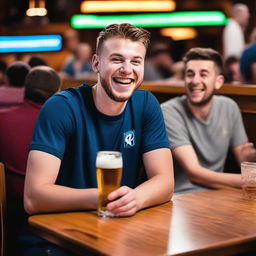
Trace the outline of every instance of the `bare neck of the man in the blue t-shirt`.
[[123, 112], [127, 101], [117, 102], [109, 98], [99, 83], [92, 87], [92, 95], [96, 108], [108, 116], [116, 116]]

